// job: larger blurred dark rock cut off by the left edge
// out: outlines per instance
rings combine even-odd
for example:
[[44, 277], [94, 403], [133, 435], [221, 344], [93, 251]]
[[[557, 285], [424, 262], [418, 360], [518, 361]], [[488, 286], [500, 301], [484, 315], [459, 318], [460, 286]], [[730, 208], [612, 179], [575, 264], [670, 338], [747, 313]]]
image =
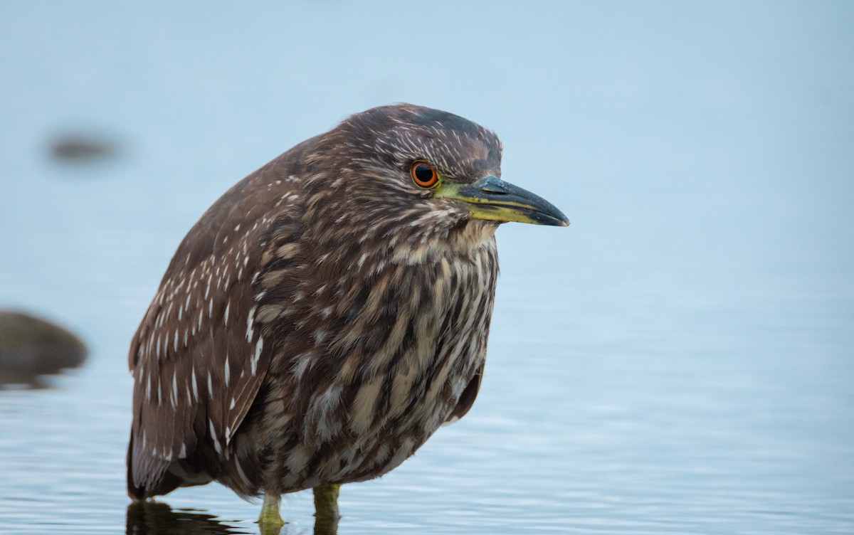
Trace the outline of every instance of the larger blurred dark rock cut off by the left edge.
[[0, 311], [0, 388], [41, 386], [41, 375], [76, 368], [85, 361], [82, 340], [54, 323], [15, 311]]

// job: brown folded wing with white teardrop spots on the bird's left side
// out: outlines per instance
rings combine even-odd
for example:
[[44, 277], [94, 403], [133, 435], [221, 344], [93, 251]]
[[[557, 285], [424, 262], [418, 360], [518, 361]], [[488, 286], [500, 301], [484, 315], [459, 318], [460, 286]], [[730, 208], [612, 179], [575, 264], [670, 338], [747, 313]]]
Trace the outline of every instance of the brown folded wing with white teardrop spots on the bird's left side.
[[132, 497], [178, 486], [163, 482], [167, 468], [202, 441], [222, 454], [264, 381], [271, 344], [254, 313], [264, 241], [277, 208], [295, 197], [293, 183], [277, 179], [286, 155], [238, 183], [190, 230], [133, 336]]

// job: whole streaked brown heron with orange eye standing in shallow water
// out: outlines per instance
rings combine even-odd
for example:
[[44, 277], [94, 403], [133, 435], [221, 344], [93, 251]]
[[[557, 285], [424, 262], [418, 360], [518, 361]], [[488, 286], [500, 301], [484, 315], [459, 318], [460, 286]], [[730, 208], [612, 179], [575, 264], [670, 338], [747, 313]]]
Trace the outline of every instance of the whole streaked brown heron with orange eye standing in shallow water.
[[506, 222], [567, 226], [501, 178], [493, 131], [399, 103], [349, 116], [222, 195], [132, 337], [127, 491], [263, 496], [387, 474], [471, 409]]

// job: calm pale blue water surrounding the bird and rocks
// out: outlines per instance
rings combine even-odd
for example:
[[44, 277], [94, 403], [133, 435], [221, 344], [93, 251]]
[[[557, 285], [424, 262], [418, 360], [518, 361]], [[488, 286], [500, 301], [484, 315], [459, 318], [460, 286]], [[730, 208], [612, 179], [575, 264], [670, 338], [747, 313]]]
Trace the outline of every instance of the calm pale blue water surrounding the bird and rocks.
[[[174, 247], [399, 101], [493, 128], [573, 225], [499, 231], [477, 404], [345, 486], [339, 532], [854, 532], [851, 27], [845, 2], [3, 3], [0, 306], [91, 358], [0, 391], [0, 533], [126, 529], [126, 348]], [[66, 132], [118, 154], [51, 160]], [[162, 501], [190, 519], [164, 532], [257, 531], [219, 486]], [[288, 497], [284, 532], [312, 512]]]

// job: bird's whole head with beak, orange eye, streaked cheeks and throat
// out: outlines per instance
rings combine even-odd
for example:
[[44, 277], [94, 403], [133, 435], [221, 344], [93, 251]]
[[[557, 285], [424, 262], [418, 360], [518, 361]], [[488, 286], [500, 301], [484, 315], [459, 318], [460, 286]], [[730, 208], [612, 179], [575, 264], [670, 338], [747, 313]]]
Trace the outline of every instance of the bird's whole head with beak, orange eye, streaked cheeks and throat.
[[480, 247], [506, 222], [569, 225], [501, 179], [501, 149], [492, 131], [453, 113], [411, 104], [356, 113], [304, 148], [309, 231], [327, 247], [370, 240], [417, 261]]

